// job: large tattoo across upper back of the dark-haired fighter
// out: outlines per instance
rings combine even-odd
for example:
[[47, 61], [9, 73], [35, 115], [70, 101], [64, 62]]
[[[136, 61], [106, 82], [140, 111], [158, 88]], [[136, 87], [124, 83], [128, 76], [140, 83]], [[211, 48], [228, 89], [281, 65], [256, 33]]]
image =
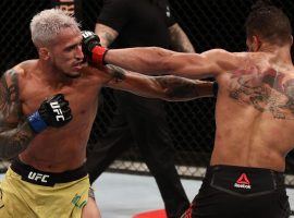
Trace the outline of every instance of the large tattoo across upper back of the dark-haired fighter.
[[260, 72], [253, 66], [233, 72], [230, 97], [260, 112], [270, 112], [274, 119], [294, 119], [294, 78], [274, 69]]

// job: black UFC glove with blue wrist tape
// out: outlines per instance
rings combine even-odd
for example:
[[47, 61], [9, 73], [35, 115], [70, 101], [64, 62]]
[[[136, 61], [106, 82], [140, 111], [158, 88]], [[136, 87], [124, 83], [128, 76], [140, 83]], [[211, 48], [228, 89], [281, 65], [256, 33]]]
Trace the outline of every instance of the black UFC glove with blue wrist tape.
[[34, 132], [40, 133], [47, 126], [61, 128], [73, 119], [69, 101], [62, 94], [45, 100], [39, 109], [27, 117]]

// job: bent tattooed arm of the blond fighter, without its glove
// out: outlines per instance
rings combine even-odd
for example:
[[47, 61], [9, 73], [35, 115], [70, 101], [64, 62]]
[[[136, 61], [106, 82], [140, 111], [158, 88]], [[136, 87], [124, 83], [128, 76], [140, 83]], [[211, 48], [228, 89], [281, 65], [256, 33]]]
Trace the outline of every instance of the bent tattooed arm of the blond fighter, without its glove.
[[10, 70], [0, 81], [0, 158], [10, 159], [28, 146], [35, 134], [22, 121], [17, 72]]

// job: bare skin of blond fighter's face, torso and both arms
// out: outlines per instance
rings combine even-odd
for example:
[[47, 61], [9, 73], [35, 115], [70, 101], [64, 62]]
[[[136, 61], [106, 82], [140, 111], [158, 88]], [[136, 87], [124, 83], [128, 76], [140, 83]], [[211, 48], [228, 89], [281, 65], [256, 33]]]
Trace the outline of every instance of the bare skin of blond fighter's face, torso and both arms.
[[[83, 65], [79, 32], [64, 29], [53, 51], [66, 74], [51, 65], [28, 60], [5, 72], [0, 83], [0, 157], [20, 159], [41, 171], [63, 172], [81, 167], [98, 108], [102, 86], [166, 100], [188, 100], [212, 96], [211, 83], [175, 76], [145, 76], [109, 65], [98, 70]], [[57, 49], [54, 51], [54, 49]], [[26, 117], [56, 94], [70, 102], [73, 120], [62, 128], [33, 133]]]

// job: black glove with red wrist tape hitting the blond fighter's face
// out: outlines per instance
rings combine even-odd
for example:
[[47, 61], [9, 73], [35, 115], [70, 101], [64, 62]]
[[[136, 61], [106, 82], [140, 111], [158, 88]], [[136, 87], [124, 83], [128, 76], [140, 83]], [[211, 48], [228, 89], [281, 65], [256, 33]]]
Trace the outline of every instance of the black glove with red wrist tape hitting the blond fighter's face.
[[108, 49], [100, 45], [100, 38], [90, 31], [83, 31], [82, 36], [82, 49], [86, 60], [97, 66], [103, 65], [105, 55]]

